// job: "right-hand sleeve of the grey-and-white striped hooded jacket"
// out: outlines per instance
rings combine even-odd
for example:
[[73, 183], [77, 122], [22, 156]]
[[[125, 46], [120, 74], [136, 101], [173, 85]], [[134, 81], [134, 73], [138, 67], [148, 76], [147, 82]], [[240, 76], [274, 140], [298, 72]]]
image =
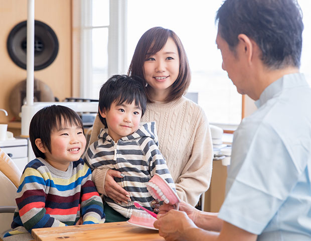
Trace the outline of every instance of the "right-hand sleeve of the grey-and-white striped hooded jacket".
[[169, 185], [176, 191], [171, 173], [156, 143], [154, 143], [154, 141], [151, 138], [147, 138], [143, 150], [146, 150], [145, 156], [149, 162], [149, 170], [151, 177], [155, 173], [161, 175], [169, 183]]

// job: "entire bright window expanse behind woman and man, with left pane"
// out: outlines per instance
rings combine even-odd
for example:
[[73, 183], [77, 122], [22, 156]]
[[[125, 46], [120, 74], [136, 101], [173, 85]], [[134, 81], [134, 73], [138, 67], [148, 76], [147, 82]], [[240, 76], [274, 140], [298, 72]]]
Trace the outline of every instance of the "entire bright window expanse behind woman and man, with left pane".
[[[149, 28], [162, 26], [176, 32], [184, 44], [192, 70], [189, 91], [198, 92], [198, 103], [210, 123], [240, 123], [242, 97], [222, 70], [221, 54], [215, 44], [215, 14], [223, 0], [74, 0], [76, 2], [84, 4], [81, 8], [81, 97], [98, 98], [101, 84], [110, 75], [127, 72], [141, 35]], [[298, 0], [298, 3], [302, 12], [311, 8], [309, 0]], [[311, 16], [305, 14], [303, 22], [300, 70], [311, 83]]]

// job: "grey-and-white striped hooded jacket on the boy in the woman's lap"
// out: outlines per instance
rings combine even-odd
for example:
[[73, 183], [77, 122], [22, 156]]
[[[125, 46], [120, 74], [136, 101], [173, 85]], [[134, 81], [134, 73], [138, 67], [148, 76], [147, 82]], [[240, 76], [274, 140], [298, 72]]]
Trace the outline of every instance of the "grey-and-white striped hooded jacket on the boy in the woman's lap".
[[161, 175], [175, 190], [173, 178], [159, 151], [156, 132], [156, 123], [140, 124], [136, 132], [115, 143], [107, 129], [102, 129], [98, 141], [86, 151], [84, 160], [93, 170], [92, 179], [99, 193], [103, 193], [107, 170], [117, 170], [125, 175], [114, 180], [129, 192], [131, 201], [128, 204], [118, 204], [103, 193], [107, 204], [124, 217], [129, 218], [133, 209], [137, 209], [134, 201], [152, 211], [153, 197], [148, 193], [146, 184], [155, 173]]

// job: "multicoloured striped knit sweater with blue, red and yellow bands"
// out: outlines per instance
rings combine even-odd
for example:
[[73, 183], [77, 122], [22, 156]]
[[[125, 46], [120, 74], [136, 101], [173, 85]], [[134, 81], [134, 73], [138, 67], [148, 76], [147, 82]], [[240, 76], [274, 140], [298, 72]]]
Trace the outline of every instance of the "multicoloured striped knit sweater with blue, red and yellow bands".
[[105, 217], [91, 170], [82, 159], [71, 162], [67, 171], [54, 168], [42, 158], [28, 163], [16, 203], [13, 230], [5, 234], [4, 240], [31, 233], [33, 228], [74, 225], [80, 216], [83, 224], [102, 223]]

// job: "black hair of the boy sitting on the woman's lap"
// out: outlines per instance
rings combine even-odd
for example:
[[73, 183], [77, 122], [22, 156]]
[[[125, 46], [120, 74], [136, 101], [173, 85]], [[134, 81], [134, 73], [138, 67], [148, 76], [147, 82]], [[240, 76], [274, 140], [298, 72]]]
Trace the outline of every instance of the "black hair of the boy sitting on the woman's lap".
[[[100, 88], [98, 109], [108, 111], [113, 102], [130, 104], [135, 101], [135, 104], [140, 106], [141, 116], [143, 116], [147, 100], [142, 82], [137, 76], [111, 76]], [[107, 128], [106, 118], [103, 118], [100, 113], [98, 115], [101, 123]]]

